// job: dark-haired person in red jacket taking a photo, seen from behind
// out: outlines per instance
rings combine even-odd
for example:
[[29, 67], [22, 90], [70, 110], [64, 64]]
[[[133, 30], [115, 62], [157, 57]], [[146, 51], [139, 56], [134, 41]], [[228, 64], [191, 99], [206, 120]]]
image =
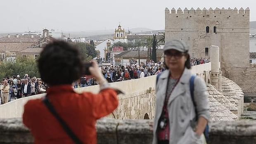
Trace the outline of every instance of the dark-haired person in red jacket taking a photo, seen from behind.
[[[80, 52], [63, 41], [47, 44], [38, 59], [41, 78], [50, 85], [46, 98], [73, 134], [83, 144], [96, 144], [96, 120], [118, 106], [119, 90], [109, 87], [97, 63], [91, 75], [100, 83], [100, 92], [76, 93], [72, 83], [84, 74]], [[31, 130], [35, 144], [72, 144], [74, 140], [50, 112], [43, 99], [29, 100], [24, 106], [23, 123]]]

